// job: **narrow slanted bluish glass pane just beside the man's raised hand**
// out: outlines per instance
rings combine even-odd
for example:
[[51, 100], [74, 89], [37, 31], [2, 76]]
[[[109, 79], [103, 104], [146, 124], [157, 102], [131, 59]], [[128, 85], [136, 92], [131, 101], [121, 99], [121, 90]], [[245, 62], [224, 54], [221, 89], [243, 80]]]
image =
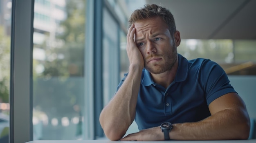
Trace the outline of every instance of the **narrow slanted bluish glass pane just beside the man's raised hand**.
[[[110, 26], [111, 25], [111, 26]], [[119, 83], [119, 40], [118, 25], [108, 13], [103, 9], [103, 104], [108, 103], [115, 94]]]

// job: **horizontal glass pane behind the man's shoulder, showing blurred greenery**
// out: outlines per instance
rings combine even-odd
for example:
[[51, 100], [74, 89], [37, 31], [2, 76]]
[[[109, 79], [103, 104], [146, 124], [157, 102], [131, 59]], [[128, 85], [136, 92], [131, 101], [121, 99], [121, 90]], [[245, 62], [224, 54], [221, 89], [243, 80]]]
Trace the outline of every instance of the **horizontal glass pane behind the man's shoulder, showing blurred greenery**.
[[256, 75], [256, 40], [182, 39], [178, 53], [187, 59], [211, 59], [228, 75]]

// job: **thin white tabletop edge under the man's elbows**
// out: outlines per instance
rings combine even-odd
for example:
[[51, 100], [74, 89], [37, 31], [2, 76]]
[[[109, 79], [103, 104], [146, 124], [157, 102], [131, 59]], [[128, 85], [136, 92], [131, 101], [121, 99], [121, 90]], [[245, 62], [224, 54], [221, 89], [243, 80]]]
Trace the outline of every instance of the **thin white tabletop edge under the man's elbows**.
[[29, 141], [27, 143], [256, 143], [256, 139], [250, 140], [226, 140], [226, 141], [110, 141], [110, 140], [79, 140], [79, 141]]

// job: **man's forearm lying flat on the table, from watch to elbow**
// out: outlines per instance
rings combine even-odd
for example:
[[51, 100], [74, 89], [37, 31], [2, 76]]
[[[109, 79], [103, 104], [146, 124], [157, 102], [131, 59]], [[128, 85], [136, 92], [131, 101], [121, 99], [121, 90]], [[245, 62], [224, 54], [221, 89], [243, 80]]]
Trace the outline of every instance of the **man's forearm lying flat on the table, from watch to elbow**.
[[195, 123], [178, 123], [170, 132], [174, 140], [247, 139], [249, 122], [246, 112], [222, 110]]

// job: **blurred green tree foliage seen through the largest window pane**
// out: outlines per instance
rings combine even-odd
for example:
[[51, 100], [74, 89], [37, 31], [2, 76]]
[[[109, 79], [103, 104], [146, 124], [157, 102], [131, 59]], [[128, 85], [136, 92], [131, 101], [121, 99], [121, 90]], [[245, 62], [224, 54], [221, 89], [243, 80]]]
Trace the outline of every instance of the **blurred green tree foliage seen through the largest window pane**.
[[[61, 47], [45, 47], [49, 56], [57, 55], [53, 61], [46, 60], [42, 76], [83, 76], [85, 48], [85, 0], [67, 0], [67, 19], [60, 23], [63, 31], [56, 39], [63, 41]], [[58, 58], [58, 57], [63, 58]]]

